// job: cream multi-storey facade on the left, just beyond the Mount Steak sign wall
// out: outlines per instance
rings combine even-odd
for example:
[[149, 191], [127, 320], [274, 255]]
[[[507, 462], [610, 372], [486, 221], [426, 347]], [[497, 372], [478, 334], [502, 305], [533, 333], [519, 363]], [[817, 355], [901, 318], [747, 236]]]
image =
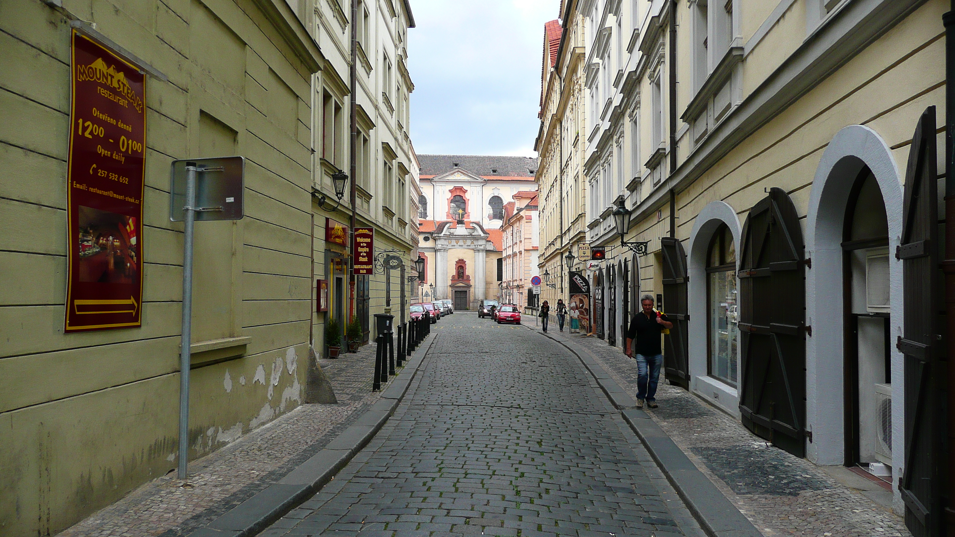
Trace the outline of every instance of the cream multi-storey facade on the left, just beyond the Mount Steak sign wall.
[[[305, 2], [303, 2], [304, 4]], [[411, 296], [412, 286], [402, 281], [402, 270], [387, 270], [386, 256], [403, 261], [404, 274], [414, 273], [412, 250], [416, 246], [416, 177], [414, 150], [408, 134], [410, 95], [414, 83], [408, 73], [408, 31], [414, 14], [407, 0], [371, 2], [354, 0], [358, 25], [354, 54], [355, 87], [350, 88], [351, 3], [315, 0], [316, 41], [327, 61], [314, 76], [313, 121], [316, 148], [313, 182], [312, 285], [329, 285], [329, 311], [312, 308], [311, 333], [317, 354], [325, 354], [325, 322], [337, 317], [342, 330], [354, 315], [366, 339], [375, 313], [390, 312], [402, 322], [401, 292]], [[355, 105], [354, 162], [350, 155], [350, 107]], [[341, 203], [335, 198], [331, 175], [352, 175]], [[350, 189], [354, 188], [354, 205]], [[321, 204], [324, 196], [325, 203]], [[350, 245], [324, 241], [326, 226], [334, 222], [374, 228], [374, 269], [370, 275], [350, 274]], [[331, 224], [334, 226], [334, 224]], [[387, 281], [391, 279], [390, 286]], [[317, 290], [312, 293], [316, 296]], [[391, 296], [389, 301], [387, 296]], [[353, 297], [353, 298], [352, 298]], [[371, 339], [374, 335], [371, 334]]]

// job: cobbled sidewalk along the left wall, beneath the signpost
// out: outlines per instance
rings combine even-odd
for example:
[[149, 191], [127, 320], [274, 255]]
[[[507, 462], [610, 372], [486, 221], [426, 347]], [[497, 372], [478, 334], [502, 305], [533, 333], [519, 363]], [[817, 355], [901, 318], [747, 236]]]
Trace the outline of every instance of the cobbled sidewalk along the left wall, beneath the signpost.
[[96, 511], [60, 537], [179, 537], [205, 526], [317, 453], [379, 395], [371, 392], [375, 345], [319, 360], [338, 404], [304, 404], [189, 464], [186, 483], [173, 471]]

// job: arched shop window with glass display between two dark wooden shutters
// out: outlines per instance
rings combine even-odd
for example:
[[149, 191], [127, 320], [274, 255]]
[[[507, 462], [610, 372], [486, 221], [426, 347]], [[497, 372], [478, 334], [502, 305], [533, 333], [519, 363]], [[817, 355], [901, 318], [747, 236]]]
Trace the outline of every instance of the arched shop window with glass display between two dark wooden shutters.
[[710, 376], [736, 385], [739, 330], [736, 326], [736, 248], [730, 228], [719, 226], [707, 255]]

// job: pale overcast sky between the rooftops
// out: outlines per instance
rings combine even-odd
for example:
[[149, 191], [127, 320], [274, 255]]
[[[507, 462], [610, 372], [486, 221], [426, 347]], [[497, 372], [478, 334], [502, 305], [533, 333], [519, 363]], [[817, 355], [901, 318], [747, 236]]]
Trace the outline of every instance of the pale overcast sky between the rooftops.
[[543, 25], [559, 0], [411, 0], [411, 136], [426, 154], [536, 157]]

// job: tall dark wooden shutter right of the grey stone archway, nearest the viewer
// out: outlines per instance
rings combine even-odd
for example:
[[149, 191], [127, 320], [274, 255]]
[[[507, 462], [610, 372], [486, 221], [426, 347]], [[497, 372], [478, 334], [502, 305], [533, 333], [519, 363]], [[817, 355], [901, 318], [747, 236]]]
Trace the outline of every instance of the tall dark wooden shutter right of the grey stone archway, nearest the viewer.
[[935, 107], [919, 119], [905, 170], [902, 260], [905, 322], [905, 465], [900, 491], [914, 537], [941, 535], [943, 519], [944, 377], [935, 147]]

